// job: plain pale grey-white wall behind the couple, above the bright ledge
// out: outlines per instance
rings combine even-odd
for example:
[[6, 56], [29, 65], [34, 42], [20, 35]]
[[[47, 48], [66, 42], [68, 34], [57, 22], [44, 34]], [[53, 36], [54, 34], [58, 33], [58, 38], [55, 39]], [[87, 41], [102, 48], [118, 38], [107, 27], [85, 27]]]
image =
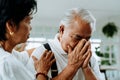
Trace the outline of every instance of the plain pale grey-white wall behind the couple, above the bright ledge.
[[115, 22], [120, 27], [120, 0], [37, 0], [37, 2], [38, 11], [32, 23], [32, 37], [44, 35], [43, 33], [45, 36], [51, 34], [53, 37], [64, 13], [74, 7], [89, 9], [95, 16], [97, 28], [93, 38], [105, 38], [101, 30], [109, 21]]

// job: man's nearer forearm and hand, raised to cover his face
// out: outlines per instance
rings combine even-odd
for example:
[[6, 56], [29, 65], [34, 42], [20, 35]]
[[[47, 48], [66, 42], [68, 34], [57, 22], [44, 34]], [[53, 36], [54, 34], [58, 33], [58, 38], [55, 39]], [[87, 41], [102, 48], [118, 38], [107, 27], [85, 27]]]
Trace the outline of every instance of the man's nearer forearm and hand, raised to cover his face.
[[83, 39], [73, 50], [68, 46], [68, 65], [52, 80], [72, 80], [79, 68], [83, 66], [83, 63], [91, 57], [91, 54], [89, 54], [90, 50], [88, 49], [89, 45], [90, 42], [86, 42]]

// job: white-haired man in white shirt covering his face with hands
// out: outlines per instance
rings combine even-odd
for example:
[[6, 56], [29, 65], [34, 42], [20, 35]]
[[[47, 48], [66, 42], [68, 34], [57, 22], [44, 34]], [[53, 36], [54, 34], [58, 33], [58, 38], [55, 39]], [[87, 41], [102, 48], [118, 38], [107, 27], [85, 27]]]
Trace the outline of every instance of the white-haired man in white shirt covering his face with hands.
[[[67, 75], [65, 73], [70, 72], [70, 69], [66, 70], [65, 68], [71, 63], [71, 54], [72, 58], [76, 59], [74, 62], [79, 62], [79, 65], [76, 70], [74, 67], [74, 70], [69, 73], [68, 77], [72, 77], [68, 80], [72, 78], [73, 80], [101, 80], [99, 66], [95, 58], [91, 57], [90, 50], [89, 39], [94, 29], [95, 18], [88, 10], [73, 8], [65, 14], [60, 22], [59, 33], [56, 34], [54, 40], [48, 42], [54, 53], [58, 69], [58, 75], [52, 78], [53, 80], [64, 80], [64, 75]], [[79, 53], [76, 49], [80, 50]], [[40, 53], [44, 50], [45, 47], [42, 45], [35, 49], [32, 55], [39, 59]], [[34, 73], [34, 66], [32, 65], [33, 61], [31, 58], [27, 67]], [[50, 75], [49, 73], [48, 76]]]

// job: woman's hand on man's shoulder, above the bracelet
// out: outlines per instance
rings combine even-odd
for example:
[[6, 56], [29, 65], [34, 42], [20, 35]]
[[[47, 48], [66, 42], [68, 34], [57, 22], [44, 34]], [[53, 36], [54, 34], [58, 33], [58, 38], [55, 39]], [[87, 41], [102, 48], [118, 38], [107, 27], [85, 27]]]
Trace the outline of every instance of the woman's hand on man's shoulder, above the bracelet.
[[51, 65], [55, 62], [55, 58], [53, 59], [53, 56], [53, 53], [48, 50], [45, 50], [40, 60], [38, 60], [35, 56], [32, 56], [36, 71], [47, 75]]

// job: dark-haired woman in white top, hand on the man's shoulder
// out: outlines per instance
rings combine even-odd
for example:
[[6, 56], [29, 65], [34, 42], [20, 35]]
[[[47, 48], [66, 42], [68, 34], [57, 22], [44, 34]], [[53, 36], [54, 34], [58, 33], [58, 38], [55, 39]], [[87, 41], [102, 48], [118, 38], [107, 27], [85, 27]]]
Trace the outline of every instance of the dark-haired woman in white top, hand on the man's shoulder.
[[[35, 80], [25, 67], [28, 54], [20, 54], [13, 48], [29, 38], [36, 6], [35, 0], [0, 0], [0, 80]], [[46, 80], [45, 74], [55, 61], [52, 56], [51, 51], [45, 51], [41, 60], [33, 57], [37, 80]]]

